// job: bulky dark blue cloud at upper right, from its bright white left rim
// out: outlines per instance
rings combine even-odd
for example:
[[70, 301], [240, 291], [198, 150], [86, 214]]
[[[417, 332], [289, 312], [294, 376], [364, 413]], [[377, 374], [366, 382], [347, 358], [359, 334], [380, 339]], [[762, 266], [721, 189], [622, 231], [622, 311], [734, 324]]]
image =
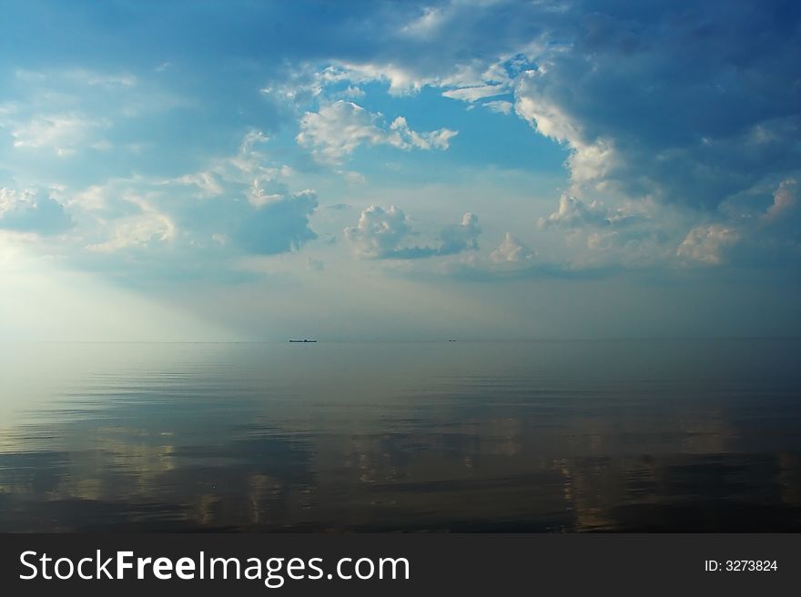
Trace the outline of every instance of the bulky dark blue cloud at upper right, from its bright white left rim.
[[801, 49], [776, 26], [797, 18], [786, 6], [581, 4], [597, 12], [515, 85], [518, 115], [571, 149], [576, 185], [709, 209], [797, 167], [801, 89], [776, 93]]

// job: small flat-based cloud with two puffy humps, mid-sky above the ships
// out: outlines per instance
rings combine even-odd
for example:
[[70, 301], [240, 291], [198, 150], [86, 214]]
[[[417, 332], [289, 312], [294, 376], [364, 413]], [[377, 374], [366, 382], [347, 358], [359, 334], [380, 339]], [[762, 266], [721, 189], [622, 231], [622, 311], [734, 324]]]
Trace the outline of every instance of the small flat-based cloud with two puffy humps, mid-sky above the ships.
[[409, 247], [404, 246], [406, 241], [417, 233], [412, 230], [406, 214], [395, 206], [387, 209], [370, 206], [361, 212], [357, 225], [345, 228], [344, 232], [361, 258], [418, 259], [455, 255], [478, 248], [481, 227], [478, 218], [467, 213], [460, 224], [441, 230], [439, 246]]

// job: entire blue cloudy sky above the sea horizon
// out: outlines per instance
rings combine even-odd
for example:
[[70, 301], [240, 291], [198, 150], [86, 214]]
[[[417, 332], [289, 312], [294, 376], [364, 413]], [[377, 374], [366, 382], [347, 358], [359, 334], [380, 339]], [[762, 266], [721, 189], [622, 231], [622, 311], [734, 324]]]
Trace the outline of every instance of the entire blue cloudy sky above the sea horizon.
[[794, 1], [0, 20], [0, 339], [801, 334]]

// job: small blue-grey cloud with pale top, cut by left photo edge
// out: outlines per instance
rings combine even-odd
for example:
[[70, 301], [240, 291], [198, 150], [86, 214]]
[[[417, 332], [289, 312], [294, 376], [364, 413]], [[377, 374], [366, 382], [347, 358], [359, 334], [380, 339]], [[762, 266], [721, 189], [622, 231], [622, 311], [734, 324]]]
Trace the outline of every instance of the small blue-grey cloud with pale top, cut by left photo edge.
[[64, 206], [45, 192], [26, 190], [20, 193], [12, 188], [0, 188], [0, 228], [55, 235], [73, 226]]

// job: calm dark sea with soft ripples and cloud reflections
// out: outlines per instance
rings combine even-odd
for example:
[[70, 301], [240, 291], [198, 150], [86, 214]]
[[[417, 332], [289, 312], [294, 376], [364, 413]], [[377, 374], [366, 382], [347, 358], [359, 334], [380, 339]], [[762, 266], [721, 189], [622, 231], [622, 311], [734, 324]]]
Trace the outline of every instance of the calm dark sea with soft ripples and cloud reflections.
[[0, 345], [0, 531], [801, 531], [799, 356]]

